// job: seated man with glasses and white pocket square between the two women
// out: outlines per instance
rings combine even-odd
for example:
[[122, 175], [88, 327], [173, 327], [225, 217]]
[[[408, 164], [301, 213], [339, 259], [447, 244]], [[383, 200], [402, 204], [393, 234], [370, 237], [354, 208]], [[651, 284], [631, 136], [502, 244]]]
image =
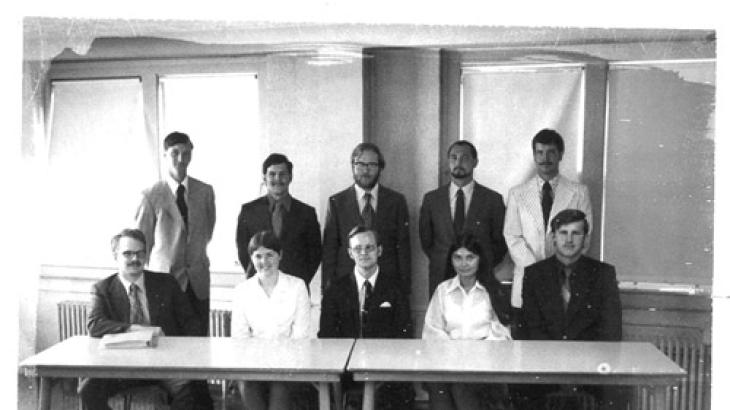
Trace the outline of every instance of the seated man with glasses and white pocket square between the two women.
[[[398, 283], [399, 274], [381, 272], [383, 249], [377, 233], [358, 225], [347, 236], [347, 253], [355, 262], [350, 274], [337, 274], [322, 295], [320, 338], [408, 338], [412, 333], [408, 298]], [[345, 381], [345, 389], [352, 381]], [[377, 409], [409, 409], [413, 386], [387, 383], [375, 395]], [[348, 398], [348, 408], [359, 408]]]

